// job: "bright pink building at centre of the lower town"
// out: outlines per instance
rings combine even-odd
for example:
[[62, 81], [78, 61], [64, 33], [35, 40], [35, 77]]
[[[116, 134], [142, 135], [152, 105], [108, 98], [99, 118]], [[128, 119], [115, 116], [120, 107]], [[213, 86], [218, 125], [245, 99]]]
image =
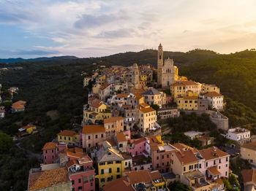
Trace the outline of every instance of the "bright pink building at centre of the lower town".
[[132, 157], [143, 155], [143, 151], [146, 150], [146, 138], [131, 139], [129, 140], [129, 145], [127, 146], [127, 152]]

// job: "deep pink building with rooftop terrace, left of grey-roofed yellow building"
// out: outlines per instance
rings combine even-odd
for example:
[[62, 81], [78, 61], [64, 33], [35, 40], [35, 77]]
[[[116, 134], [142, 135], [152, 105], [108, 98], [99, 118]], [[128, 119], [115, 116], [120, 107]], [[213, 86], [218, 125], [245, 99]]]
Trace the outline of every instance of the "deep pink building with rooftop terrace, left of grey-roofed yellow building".
[[[94, 191], [95, 190], [95, 170], [92, 165], [92, 160], [88, 155], [83, 154], [81, 149], [78, 152], [69, 153], [69, 162], [67, 169], [69, 179], [72, 182], [72, 190]], [[75, 159], [77, 158], [77, 159]]]

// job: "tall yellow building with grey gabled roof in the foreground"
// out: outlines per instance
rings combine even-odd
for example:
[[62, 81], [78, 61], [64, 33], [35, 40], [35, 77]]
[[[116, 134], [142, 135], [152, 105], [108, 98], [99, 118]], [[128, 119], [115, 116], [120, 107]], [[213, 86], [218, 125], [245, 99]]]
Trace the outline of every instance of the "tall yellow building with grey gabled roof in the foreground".
[[95, 177], [99, 180], [99, 188], [123, 176], [124, 157], [108, 141], [103, 142], [96, 156], [98, 169]]

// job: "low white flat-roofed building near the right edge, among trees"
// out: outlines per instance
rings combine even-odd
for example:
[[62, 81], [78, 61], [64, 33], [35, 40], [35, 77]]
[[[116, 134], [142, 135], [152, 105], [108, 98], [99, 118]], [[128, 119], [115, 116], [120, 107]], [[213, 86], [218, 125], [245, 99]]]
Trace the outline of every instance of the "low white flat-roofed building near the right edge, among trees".
[[251, 139], [250, 131], [246, 128], [230, 128], [226, 138], [236, 141], [238, 144], [245, 144]]

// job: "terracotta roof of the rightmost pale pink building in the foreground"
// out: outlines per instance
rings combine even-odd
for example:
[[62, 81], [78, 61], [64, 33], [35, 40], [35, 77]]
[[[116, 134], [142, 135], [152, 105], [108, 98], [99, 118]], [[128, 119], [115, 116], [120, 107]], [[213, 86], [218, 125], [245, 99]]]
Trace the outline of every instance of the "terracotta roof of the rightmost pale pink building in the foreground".
[[200, 155], [206, 160], [213, 160], [219, 157], [229, 156], [226, 152], [221, 151], [217, 147], [209, 147], [198, 151]]

